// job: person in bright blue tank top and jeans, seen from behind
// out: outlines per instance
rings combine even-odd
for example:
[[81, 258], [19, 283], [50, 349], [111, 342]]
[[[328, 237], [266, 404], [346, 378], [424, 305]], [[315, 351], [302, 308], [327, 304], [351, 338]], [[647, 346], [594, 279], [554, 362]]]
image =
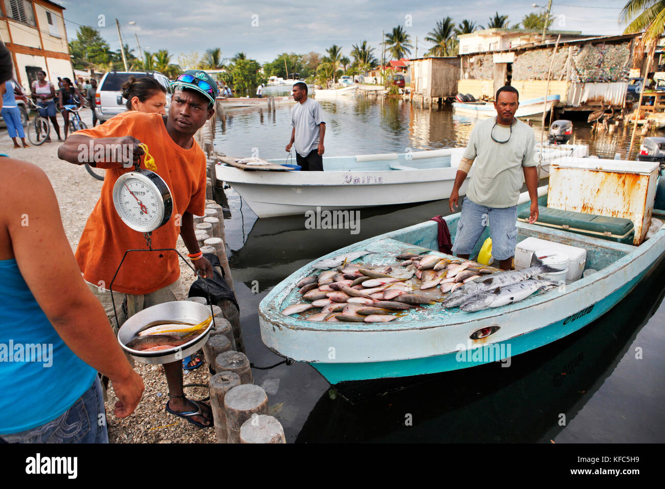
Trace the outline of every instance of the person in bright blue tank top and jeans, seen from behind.
[[[0, 43], [3, 85], [12, 69]], [[0, 444], [108, 442], [97, 372], [113, 383], [118, 418], [143, 381], [80, 275], [49, 178], [0, 156]]]

